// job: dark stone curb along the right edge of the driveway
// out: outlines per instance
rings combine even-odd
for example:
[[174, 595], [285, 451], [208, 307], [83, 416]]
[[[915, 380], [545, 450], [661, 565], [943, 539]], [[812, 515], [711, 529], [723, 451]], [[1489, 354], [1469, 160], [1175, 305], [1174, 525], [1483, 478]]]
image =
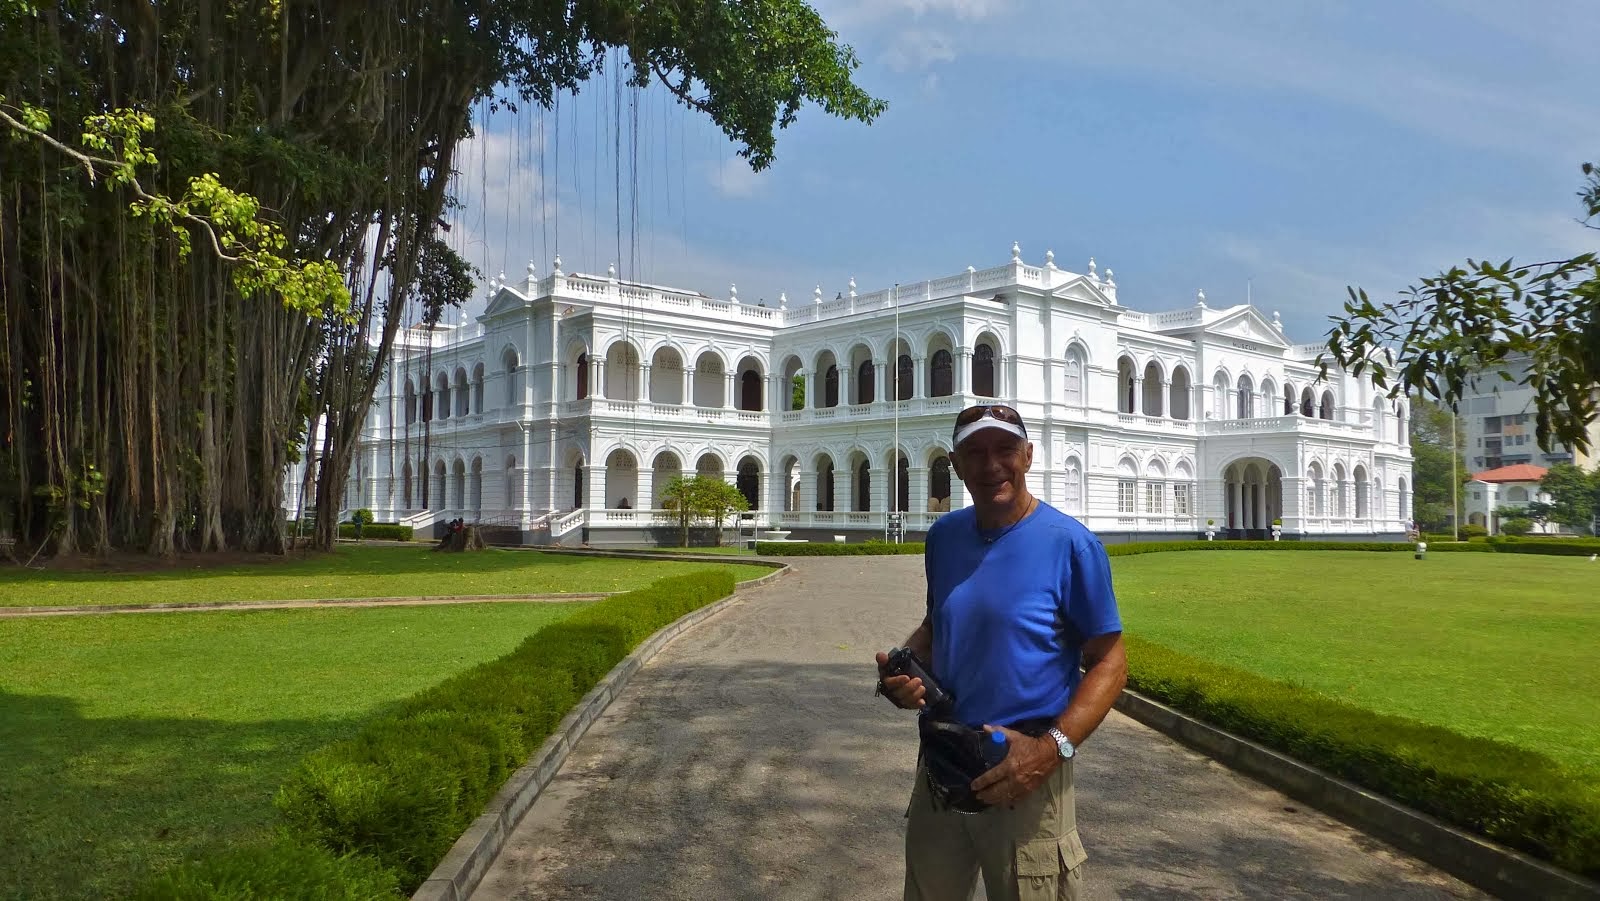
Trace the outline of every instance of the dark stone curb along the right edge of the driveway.
[[1115, 707], [1230, 770], [1266, 783], [1496, 896], [1600, 901], [1597, 882], [1464, 832], [1134, 691], [1123, 690]]

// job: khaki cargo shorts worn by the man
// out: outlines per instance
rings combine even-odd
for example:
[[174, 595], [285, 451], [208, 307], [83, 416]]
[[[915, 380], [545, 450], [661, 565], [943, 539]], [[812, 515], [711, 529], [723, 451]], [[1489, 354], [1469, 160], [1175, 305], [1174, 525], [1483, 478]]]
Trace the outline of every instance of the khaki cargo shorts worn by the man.
[[906, 810], [906, 901], [968, 901], [982, 872], [989, 901], [1077, 901], [1083, 842], [1072, 795], [1072, 762], [1014, 808], [934, 810], [918, 767]]

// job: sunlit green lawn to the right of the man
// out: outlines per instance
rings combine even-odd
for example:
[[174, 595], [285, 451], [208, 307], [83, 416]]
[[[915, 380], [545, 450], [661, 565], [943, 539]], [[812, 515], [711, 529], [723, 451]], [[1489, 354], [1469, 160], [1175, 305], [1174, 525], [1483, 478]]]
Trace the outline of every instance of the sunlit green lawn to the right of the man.
[[1600, 563], [1222, 551], [1112, 570], [1131, 635], [1600, 778]]

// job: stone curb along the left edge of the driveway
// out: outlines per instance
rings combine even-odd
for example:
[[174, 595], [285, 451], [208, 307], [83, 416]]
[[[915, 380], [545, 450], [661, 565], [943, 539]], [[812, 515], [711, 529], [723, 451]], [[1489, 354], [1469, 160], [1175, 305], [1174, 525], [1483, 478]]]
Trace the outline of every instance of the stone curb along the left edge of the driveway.
[[744, 589], [770, 583], [789, 571], [789, 567], [784, 565], [758, 579], [739, 583], [728, 597], [674, 619], [640, 642], [634, 648], [634, 653], [611, 667], [611, 672], [606, 672], [578, 701], [578, 706], [562, 717], [555, 731], [544, 739], [544, 744], [539, 746], [539, 751], [534, 752], [528, 763], [506, 779], [506, 784], [494, 794], [483, 813], [456, 839], [445, 859], [434, 867], [427, 880], [411, 895], [411, 901], [467, 901], [478, 883], [483, 882], [483, 875], [494, 864], [512, 831], [522, 823], [523, 815], [539, 800], [546, 786], [550, 784], [550, 779], [555, 778], [555, 773], [566, 762], [568, 754], [571, 754], [573, 747], [578, 746], [578, 741], [582, 739], [600, 714], [611, 706], [611, 701], [622, 693], [622, 688], [627, 687], [634, 674], [680, 634], [726, 610], [728, 605], [739, 599], [739, 592]]

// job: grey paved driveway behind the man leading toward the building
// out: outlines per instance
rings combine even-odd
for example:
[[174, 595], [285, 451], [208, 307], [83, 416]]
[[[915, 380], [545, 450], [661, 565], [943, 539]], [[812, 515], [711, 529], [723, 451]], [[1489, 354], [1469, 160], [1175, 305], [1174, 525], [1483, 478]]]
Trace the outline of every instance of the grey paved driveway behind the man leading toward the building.
[[[870, 661], [922, 559], [794, 563], [634, 677], [474, 901], [899, 898], [917, 731]], [[1115, 712], [1078, 824], [1094, 899], [1483, 898]]]

